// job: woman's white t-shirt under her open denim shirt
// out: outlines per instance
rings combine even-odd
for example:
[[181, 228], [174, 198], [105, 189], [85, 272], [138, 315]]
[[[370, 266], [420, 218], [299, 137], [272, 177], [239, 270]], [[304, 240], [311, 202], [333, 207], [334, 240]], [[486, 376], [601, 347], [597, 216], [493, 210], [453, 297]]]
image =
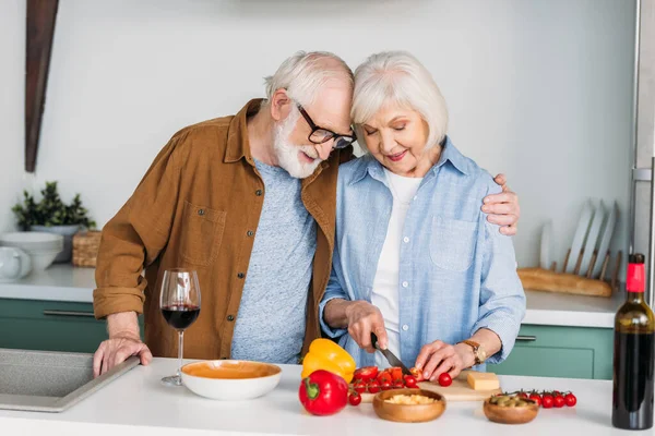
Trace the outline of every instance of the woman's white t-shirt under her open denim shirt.
[[[378, 306], [384, 317], [389, 350], [401, 359], [401, 335], [398, 329], [401, 244], [405, 238], [403, 234], [405, 217], [422, 178], [402, 177], [386, 169], [384, 169], [384, 173], [393, 195], [393, 208], [382, 253], [380, 253], [380, 259], [378, 261], [371, 303]], [[389, 367], [389, 362], [381, 353], [376, 353], [376, 365], [378, 367]]]

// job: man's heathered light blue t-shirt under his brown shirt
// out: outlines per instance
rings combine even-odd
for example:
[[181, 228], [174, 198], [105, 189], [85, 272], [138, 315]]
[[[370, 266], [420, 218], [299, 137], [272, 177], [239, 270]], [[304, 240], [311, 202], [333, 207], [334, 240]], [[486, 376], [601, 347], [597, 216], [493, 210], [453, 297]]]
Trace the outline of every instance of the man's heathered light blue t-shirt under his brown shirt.
[[301, 181], [254, 161], [266, 195], [231, 343], [233, 359], [298, 363], [317, 241], [317, 222], [300, 198]]

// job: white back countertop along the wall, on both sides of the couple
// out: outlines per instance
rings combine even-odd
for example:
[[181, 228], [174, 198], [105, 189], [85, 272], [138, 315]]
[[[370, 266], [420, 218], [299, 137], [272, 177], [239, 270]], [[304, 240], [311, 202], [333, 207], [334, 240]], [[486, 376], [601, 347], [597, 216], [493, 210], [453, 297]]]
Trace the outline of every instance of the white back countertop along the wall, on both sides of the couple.
[[[93, 302], [95, 268], [52, 265], [13, 283], [0, 283], [0, 299]], [[622, 293], [612, 298], [569, 295], [526, 291], [527, 311], [523, 324], [573, 327], [614, 327]]]

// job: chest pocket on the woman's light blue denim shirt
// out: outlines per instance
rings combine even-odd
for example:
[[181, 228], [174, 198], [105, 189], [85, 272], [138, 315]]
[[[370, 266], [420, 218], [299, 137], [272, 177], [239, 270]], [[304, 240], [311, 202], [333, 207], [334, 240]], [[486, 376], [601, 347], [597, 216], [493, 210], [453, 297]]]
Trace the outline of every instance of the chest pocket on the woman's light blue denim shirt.
[[477, 235], [477, 222], [432, 218], [430, 258], [439, 268], [465, 271], [473, 263]]

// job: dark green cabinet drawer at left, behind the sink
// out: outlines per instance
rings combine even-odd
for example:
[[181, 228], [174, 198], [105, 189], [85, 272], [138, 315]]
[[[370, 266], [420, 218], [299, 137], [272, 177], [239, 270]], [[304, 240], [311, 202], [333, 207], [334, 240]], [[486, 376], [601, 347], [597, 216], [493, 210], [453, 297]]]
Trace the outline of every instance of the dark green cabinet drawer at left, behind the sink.
[[0, 299], [0, 348], [92, 353], [105, 339], [91, 303]]

